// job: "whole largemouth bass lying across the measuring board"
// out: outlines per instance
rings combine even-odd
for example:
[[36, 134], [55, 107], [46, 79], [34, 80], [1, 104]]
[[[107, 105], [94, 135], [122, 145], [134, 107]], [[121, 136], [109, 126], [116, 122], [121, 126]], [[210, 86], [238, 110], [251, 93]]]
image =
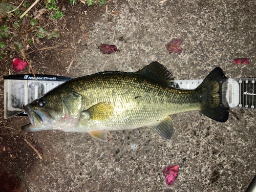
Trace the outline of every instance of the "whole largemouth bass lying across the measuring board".
[[176, 89], [172, 75], [158, 62], [135, 73], [101, 72], [65, 82], [26, 105], [31, 124], [23, 131], [62, 130], [89, 133], [108, 141], [109, 131], [147, 126], [165, 139], [174, 125], [169, 115], [197, 110], [216, 121], [228, 119], [222, 106], [227, 77], [215, 68], [195, 90]]

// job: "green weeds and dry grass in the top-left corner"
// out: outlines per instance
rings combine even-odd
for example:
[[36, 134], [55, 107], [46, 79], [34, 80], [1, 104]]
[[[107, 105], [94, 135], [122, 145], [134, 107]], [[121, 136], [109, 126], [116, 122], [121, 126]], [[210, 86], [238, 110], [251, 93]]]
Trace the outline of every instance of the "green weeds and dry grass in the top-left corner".
[[[3, 0], [0, 3], [0, 15], [3, 15], [9, 11], [14, 10], [16, 7], [12, 4], [7, 4], [6, 0]], [[102, 6], [105, 3], [105, 0], [86, 0], [88, 6], [93, 4], [97, 4]], [[71, 5], [73, 6], [76, 4], [76, 0], [70, 0]], [[46, 8], [51, 11], [51, 18], [56, 20], [57, 18], [63, 17], [63, 13], [59, 11], [59, 7], [56, 6], [56, 0], [46, 0]], [[24, 8], [28, 8], [28, 2], [23, 3]], [[18, 17], [22, 15], [19, 9], [16, 9], [14, 12]], [[10, 15], [10, 17], [13, 16]], [[86, 15], [87, 17], [87, 15]], [[6, 20], [10, 20], [10, 18], [6, 18]], [[8, 28], [5, 25], [0, 26], [0, 39], [2, 38], [10, 38], [9, 41], [13, 42], [14, 47], [16, 48], [17, 52], [21, 51], [26, 45], [33, 44], [33, 38], [35, 34], [39, 38], [47, 37], [47, 39], [51, 39], [52, 37], [59, 37], [59, 34], [55, 31], [48, 32], [45, 29], [38, 26], [37, 20], [32, 19], [32, 16], [29, 16], [28, 13], [19, 20], [13, 20], [12, 28]], [[25, 44], [25, 45], [24, 45]], [[3, 59], [3, 55], [7, 55], [6, 44], [0, 41], [0, 59]]]

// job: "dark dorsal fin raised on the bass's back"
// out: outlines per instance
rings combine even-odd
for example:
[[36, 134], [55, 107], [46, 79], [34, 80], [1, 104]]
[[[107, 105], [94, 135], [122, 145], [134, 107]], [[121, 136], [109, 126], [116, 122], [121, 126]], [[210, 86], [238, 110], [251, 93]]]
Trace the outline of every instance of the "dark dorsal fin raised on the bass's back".
[[174, 80], [172, 74], [170, 74], [170, 72], [157, 61], [150, 63], [150, 65], [144, 67], [136, 73], [164, 81], [168, 84], [170, 84], [171, 81]]

